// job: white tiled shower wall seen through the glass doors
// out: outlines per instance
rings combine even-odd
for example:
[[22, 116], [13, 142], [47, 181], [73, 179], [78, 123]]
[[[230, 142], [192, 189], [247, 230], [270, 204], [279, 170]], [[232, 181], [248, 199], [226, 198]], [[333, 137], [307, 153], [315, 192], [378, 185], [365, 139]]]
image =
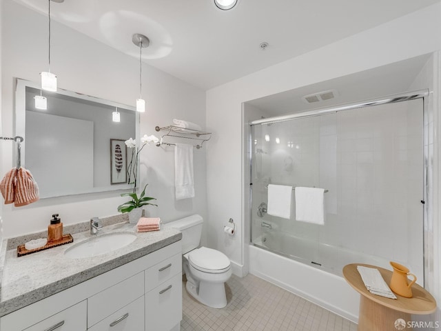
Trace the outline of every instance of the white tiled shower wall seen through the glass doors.
[[274, 230], [398, 261], [423, 279], [422, 99], [254, 130], [253, 210], [267, 199], [265, 183], [328, 190], [325, 225], [295, 221], [293, 199], [291, 219], [271, 217]]

